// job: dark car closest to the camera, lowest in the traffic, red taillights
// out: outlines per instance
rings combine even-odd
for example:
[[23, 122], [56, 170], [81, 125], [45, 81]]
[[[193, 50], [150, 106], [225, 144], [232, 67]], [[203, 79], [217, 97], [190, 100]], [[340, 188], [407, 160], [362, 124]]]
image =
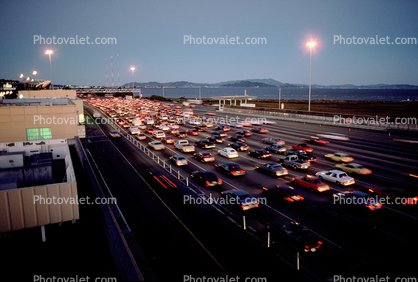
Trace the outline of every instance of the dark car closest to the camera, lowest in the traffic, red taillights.
[[322, 246], [321, 241], [312, 235], [306, 227], [297, 222], [275, 220], [270, 222], [268, 226], [272, 230], [272, 236], [281, 234], [296, 242], [296, 247], [303, 248], [305, 252], [316, 252]]

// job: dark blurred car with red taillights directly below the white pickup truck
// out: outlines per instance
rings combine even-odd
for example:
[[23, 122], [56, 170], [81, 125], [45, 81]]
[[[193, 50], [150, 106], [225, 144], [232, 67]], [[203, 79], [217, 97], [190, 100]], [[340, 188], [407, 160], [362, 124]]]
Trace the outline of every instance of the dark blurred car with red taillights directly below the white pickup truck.
[[361, 191], [345, 191], [333, 195], [334, 204], [343, 204], [347, 206], [362, 206], [371, 211], [379, 210], [382, 204], [372, 195]]

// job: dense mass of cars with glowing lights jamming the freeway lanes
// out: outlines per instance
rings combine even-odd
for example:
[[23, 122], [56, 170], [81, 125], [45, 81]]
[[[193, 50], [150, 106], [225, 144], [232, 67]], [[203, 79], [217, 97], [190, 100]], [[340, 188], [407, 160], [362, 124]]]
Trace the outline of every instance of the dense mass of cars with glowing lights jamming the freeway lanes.
[[[304, 134], [302, 130], [287, 138], [277, 133], [280, 121], [225, 115], [209, 104], [117, 98], [84, 101], [99, 113], [93, 119], [118, 124], [181, 169], [192, 187], [218, 198], [215, 202], [226, 214], [244, 216], [255, 234], [268, 230], [276, 247], [291, 245], [288, 253], [320, 254], [326, 245], [352, 252], [342, 236], [330, 236], [331, 230], [322, 232], [326, 227], [316, 229], [315, 221], [304, 221], [304, 213], [311, 210], [318, 217], [344, 218], [336, 223], [341, 233], [357, 221], [382, 226], [388, 214], [416, 219], [418, 193], [403, 185], [385, 187], [375, 182], [379, 177], [374, 170], [380, 167], [369, 167], [370, 162], [363, 163], [344, 150], [350, 148], [350, 138], [344, 134]], [[111, 140], [121, 138], [110, 127], [106, 133]], [[351, 255], [367, 257], [368, 252]]]

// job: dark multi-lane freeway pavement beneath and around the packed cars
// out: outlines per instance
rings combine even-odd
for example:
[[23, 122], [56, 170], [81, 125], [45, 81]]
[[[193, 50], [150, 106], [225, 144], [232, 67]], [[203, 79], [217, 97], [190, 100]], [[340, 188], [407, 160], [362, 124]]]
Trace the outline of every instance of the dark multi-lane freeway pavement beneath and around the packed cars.
[[[87, 105], [86, 109], [90, 115], [96, 110]], [[199, 116], [214, 111], [207, 106], [197, 106], [193, 110]], [[227, 116], [238, 117], [241, 121], [251, 117], [227, 112], [216, 112], [215, 117], [225, 120]], [[189, 178], [187, 187], [127, 139], [110, 137], [112, 128], [109, 125], [87, 126], [86, 148], [98, 165], [103, 181], [118, 199], [138, 244], [145, 250], [159, 278], [181, 280], [183, 275], [230, 275], [266, 277], [269, 281], [278, 281], [280, 277], [324, 280], [334, 275], [408, 277], [416, 274], [414, 260], [410, 256], [418, 250], [415, 239], [417, 205], [385, 203], [379, 210], [369, 210], [360, 205], [335, 203], [333, 197], [344, 191], [368, 192], [369, 189], [384, 187], [404, 188], [416, 195], [416, 178], [410, 176], [417, 171], [416, 144], [395, 142], [393, 139], [401, 136], [389, 136], [382, 131], [349, 130], [287, 121], [262, 126], [269, 132], [247, 137], [250, 149], [264, 149], [266, 144], [261, 139], [270, 136], [284, 140], [287, 148], [302, 143], [302, 138], [325, 132], [344, 134], [349, 140], [329, 140], [330, 143], [325, 145], [311, 144], [317, 161], [311, 162], [306, 170], [287, 167], [288, 174], [279, 177], [261, 173], [255, 168], [260, 163], [277, 163], [283, 155], [272, 153], [269, 160], [260, 160], [247, 152], [239, 152], [238, 158], [226, 159], [217, 152], [232, 143], [227, 137], [215, 148], [204, 150], [196, 147], [198, 152], [208, 151], [215, 156], [215, 161], [210, 163], [197, 161], [192, 153], [181, 153], [173, 145], [155, 151], [163, 160], [176, 154], [185, 156], [188, 165], [179, 168], [183, 175], [190, 176], [196, 170], [209, 170], [222, 179], [220, 186], [205, 187]], [[192, 125], [186, 123], [180, 128], [187, 130]], [[244, 129], [251, 130], [251, 127]], [[237, 130], [240, 129], [231, 128], [228, 136]], [[189, 135], [186, 139], [194, 144], [213, 131], [208, 128], [199, 136]], [[123, 134], [129, 133], [126, 130]], [[140, 141], [143, 144], [156, 140], [151, 134], [146, 135], [147, 139]], [[325, 157], [335, 152], [347, 153], [372, 173], [350, 174], [355, 178], [355, 184], [346, 187], [324, 180], [330, 187], [325, 192], [311, 192], [292, 182], [294, 177], [336, 169], [338, 162]], [[216, 170], [215, 164], [226, 162], [239, 164], [246, 171], [245, 175], [234, 177]], [[167, 179], [164, 183], [159, 180], [163, 179], [161, 176]], [[267, 195], [262, 189], [273, 185], [290, 186], [304, 200], [288, 202]], [[223, 203], [190, 200], [218, 199], [223, 191], [233, 189], [245, 190], [258, 198], [259, 208], [242, 211], [239, 207]], [[321, 247], [314, 253], [304, 252], [290, 236], [269, 229], [269, 222], [275, 220], [293, 221], [305, 226], [322, 242]], [[270, 248], [267, 248], [269, 242]], [[169, 266], [170, 270], [167, 270]]]

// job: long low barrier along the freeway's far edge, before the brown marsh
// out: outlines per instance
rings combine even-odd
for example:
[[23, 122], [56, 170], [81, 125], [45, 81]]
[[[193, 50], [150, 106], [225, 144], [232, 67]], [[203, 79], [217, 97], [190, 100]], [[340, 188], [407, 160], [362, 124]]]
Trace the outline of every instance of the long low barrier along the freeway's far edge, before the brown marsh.
[[[289, 120], [298, 122], [310, 122], [319, 124], [328, 124], [334, 126], [345, 126], [351, 128], [363, 128], [373, 130], [405, 130], [405, 131], [418, 131], [418, 124], [396, 124], [393, 121], [379, 123], [380, 118], [373, 116], [358, 116], [357, 121], [353, 121], [353, 116], [329, 114], [332, 116], [324, 115], [311, 115], [304, 113], [288, 113], [279, 112], [276, 109], [271, 110], [258, 110], [252, 108], [230, 108], [225, 107], [221, 112], [234, 112], [239, 114], [249, 114], [258, 117], [268, 117], [270, 119]], [[334, 116], [338, 116], [339, 120], [336, 121]], [[351, 118], [351, 119], [350, 119]], [[383, 118], [383, 117], [382, 117]], [[358, 122], [361, 119], [362, 123]], [[377, 120], [376, 120], [377, 119]], [[386, 118], [384, 118], [386, 120]], [[374, 122], [368, 122], [374, 121]], [[416, 122], [416, 119], [415, 119]]]

